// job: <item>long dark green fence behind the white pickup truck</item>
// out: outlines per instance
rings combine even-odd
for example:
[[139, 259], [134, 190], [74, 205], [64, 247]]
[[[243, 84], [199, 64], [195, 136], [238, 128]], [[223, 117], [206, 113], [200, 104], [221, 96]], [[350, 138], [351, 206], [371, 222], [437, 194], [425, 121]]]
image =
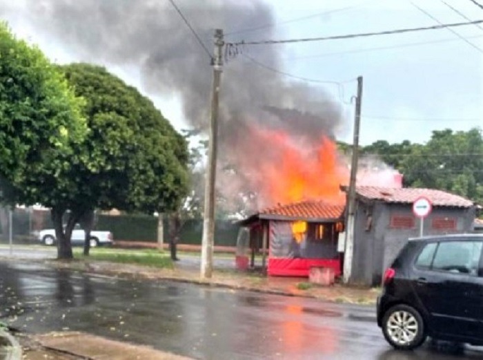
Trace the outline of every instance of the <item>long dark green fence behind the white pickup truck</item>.
[[[115, 240], [157, 241], [155, 216], [147, 215], [105, 215], [99, 214], [95, 230], [111, 231]], [[29, 243], [41, 229], [52, 229], [50, 211], [31, 208], [17, 208], [12, 211], [12, 238], [14, 243]], [[0, 207], [0, 243], [8, 243], [9, 210]], [[169, 222], [163, 219], [164, 241], [169, 240]], [[215, 222], [215, 245], [235, 246], [239, 226], [228, 220]], [[203, 219], [182, 221], [181, 244], [201, 245]]]

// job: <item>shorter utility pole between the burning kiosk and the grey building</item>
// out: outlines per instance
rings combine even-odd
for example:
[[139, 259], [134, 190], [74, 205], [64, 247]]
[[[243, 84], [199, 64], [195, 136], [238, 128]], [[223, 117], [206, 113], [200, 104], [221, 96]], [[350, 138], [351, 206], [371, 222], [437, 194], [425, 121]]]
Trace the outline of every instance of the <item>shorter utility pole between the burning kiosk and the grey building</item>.
[[359, 125], [361, 122], [362, 76], [357, 77], [357, 97], [355, 98], [354, 140], [352, 149], [351, 180], [348, 189], [346, 218], [346, 244], [344, 249], [344, 283], [351, 281], [354, 254], [355, 223], [355, 183], [357, 178], [357, 161], [359, 160]]

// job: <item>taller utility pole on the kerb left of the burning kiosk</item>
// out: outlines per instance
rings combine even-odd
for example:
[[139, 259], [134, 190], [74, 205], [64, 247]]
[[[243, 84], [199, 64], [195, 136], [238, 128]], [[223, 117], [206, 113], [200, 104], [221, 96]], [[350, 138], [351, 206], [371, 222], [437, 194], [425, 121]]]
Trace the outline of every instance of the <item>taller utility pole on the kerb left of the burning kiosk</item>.
[[203, 238], [201, 240], [201, 278], [211, 278], [213, 273], [213, 245], [215, 237], [215, 180], [217, 171], [218, 102], [219, 84], [223, 71], [223, 30], [215, 30], [215, 54], [213, 56], [213, 87], [211, 93], [208, 167], [205, 176], [205, 207]]

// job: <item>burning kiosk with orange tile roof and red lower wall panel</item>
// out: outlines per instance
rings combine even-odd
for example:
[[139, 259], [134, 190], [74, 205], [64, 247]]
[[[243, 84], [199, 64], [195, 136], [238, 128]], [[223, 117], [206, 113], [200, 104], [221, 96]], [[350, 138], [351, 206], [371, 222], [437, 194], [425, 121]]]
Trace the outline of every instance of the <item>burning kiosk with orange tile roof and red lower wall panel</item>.
[[308, 276], [311, 267], [330, 267], [342, 273], [337, 252], [344, 229], [344, 205], [308, 200], [260, 211], [240, 224], [237, 268], [255, 266], [262, 253], [262, 268], [273, 276]]

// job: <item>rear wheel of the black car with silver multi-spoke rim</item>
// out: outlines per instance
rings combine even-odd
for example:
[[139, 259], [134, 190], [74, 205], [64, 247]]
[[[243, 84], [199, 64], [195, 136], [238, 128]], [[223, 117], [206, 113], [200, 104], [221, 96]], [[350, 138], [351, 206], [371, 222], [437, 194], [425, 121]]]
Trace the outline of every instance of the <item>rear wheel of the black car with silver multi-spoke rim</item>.
[[396, 305], [382, 319], [384, 337], [398, 350], [412, 350], [426, 340], [424, 321], [417, 310], [408, 305]]

